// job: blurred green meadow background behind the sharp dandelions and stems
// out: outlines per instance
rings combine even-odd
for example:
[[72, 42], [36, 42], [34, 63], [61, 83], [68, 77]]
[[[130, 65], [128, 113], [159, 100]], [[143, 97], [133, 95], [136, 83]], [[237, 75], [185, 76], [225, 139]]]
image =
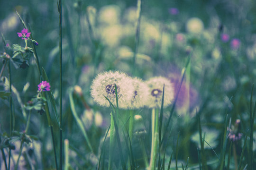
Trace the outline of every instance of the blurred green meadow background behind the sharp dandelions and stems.
[[[108, 169], [108, 144], [103, 141], [107, 141], [104, 137], [110, 126], [111, 109], [97, 105], [90, 95], [92, 80], [106, 70], [119, 70], [143, 80], [165, 76], [174, 84], [175, 94], [179, 91], [175, 105], [163, 110], [163, 127], [167, 130], [156, 168], [256, 167], [256, 1], [141, 0], [140, 7], [138, 10], [137, 0], [62, 1], [61, 92], [57, 1], [0, 1], [1, 170], [15, 169], [17, 160], [16, 168], [20, 170], [60, 169], [59, 119], [62, 139], [67, 139], [62, 147], [63, 167]], [[38, 42], [38, 46], [28, 43], [32, 52], [27, 53], [29, 66], [25, 69], [19, 68], [24, 59], [21, 56], [19, 61], [6, 57], [6, 53], [13, 56], [7, 43], [11, 47], [25, 46], [17, 35], [24, 25], [16, 11]], [[43, 73], [38, 71], [35, 51]], [[40, 114], [32, 109], [29, 114], [25, 108], [37, 95], [37, 85], [46, 80], [46, 75], [51, 85], [51, 92], [46, 93], [50, 126], [44, 111]], [[129, 111], [119, 110], [119, 114], [124, 122], [119, 131], [125, 131], [131, 118]], [[145, 134], [133, 136], [133, 152], [126, 150], [130, 147], [127, 134], [120, 132], [120, 139], [125, 159], [131, 153], [134, 156], [134, 166], [129, 167], [130, 162], [126, 161], [126, 168], [143, 170], [145, 159], [150, 159], [151, 110], [133, 110], [133, 114], [143, 119], [137, 124], [135, 120], [134, 133], [143, 129]], [[29, 128], [24, 133], [28, 120]], [[240, 137], [230, 140], [229, 134]], [[110, 152], [118, 153], [119, 149]], [[123, 169], [119, 154], [112, 161], [112, 169]]]

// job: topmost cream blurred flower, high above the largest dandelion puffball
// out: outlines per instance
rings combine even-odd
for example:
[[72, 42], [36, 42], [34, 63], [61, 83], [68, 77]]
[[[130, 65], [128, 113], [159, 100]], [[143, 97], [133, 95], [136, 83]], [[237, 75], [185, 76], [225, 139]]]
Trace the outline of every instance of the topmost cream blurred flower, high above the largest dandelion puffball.
[[119, 22], [121, 9], [117, 5], [104, 6], [99, 11], [99, 22], [112, 25]]

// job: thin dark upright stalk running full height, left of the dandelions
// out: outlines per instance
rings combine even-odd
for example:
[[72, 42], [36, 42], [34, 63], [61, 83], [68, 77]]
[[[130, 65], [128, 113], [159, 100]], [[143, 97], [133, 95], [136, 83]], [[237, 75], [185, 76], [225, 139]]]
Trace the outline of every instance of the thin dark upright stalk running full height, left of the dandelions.
[[63, 136], [62, 136], [62, 0], [58, 0], [58, 11], [59, 11], [59, 62], [60, 62], [60, 166], [59, 169], [63, 169]]

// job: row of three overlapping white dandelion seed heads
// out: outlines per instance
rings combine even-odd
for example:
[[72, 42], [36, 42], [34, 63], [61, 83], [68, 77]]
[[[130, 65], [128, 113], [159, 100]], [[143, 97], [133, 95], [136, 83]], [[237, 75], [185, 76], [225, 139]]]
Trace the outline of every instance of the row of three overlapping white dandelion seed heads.
[[174, 99], [174, 88], [170, 80], [161, 76], [150, 78], [144, 82], [137, 77], [129, 77], [119, 71], [104, 72], [93, 80], [91, 96], [101, 106], [109, 106], [109, 102], [105, 97], [116, 106], [117, 91], [119, 108], [138, 109], [144, 106], [160, 108], [164, 85], [164, 107], [166, 107]]

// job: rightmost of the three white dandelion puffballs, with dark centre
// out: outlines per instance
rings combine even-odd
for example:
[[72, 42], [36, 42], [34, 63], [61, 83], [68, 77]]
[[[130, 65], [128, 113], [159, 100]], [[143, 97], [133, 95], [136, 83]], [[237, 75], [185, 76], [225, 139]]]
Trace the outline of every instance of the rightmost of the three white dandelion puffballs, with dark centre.
[[172, 104], [174, 100], [174, 86], [169, 79], [158, 76], [152, 77], [146, 81], [149, 87], [149, 96], [147, 97], [146, 105], [149, 108], [161, 108], [163, 88], [165, 85], [164, 107]]

